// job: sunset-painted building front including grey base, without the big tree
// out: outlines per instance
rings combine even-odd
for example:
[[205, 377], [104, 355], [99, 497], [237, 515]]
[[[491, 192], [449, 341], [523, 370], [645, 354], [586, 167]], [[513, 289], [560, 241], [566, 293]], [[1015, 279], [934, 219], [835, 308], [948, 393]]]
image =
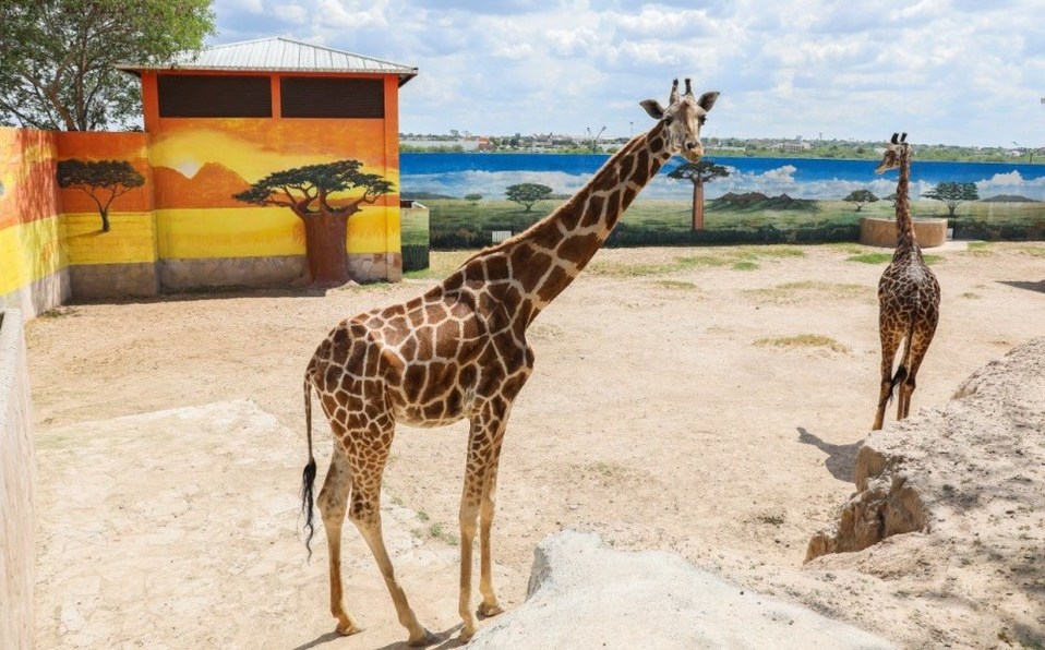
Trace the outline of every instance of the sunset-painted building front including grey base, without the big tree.
[[[278, 76], [273, 77], [278, 87]], [[358, 160], [391, 189], [360, 203], [345, 233], [353, 279], [401, 277], [398, 87], [384, 82], [384, 119], [163, 118], [143, 76], [164, 287], [292, 282], [305, 277], [305, 226], [295, 210], [236, 198], [274, 173]], [[274, 100], [278, 106], [278, 99]], [[332, 195], [347, 205], [362, 190]]]

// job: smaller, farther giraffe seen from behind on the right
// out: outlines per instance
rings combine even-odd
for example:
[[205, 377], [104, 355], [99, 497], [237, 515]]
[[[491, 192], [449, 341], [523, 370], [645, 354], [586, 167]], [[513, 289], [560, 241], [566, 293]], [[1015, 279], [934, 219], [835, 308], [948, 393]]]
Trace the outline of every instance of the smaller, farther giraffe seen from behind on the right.
[[[929, 344], [933, 342], [940, 316], [940, 286], [922, 257], [922, 250], [914, 237], [914, 224], [911, 221], [911, 147], [906, 139], [906, 133], [899, 139], [893, 133], [892, 140], [886, 144], [881, 162], [875, 169], [875, 173], [882, 173], [887, 169], [900, 170], [900, 178], [897, 180], [897, 250], [892, 254], [892, 262], [878, 281], [881, 386], [878, 393], [878, 410], [872, 426], [876, 431], [881, 429], [886, 406], [897, 386], [900, 386], [897, 420], [908, 417], [915, 376]], [[893, 374], [892, 364], [897, 349], [904, 339], [906, 342], [903, 356]]]

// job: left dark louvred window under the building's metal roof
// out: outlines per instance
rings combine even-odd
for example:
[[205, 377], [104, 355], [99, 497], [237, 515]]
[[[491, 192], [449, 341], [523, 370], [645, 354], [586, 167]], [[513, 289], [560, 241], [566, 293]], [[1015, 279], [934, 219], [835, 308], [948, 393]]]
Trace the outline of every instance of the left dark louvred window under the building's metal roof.
[[160, 74], [161, 118], [271, 118], [267, 76]]

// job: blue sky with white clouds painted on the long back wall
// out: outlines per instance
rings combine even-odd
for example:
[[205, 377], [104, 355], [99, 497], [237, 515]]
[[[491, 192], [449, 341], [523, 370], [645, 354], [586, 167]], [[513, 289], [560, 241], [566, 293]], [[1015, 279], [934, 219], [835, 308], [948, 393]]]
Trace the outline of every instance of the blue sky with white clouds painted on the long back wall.
[[[463, 197], [478, 193], [503, 198], [516, 183], [541, 183], [558, 194], [573, 194], [605, 162], [608, 156], [584, 154], [401, 154], [403, 195], [434, 193]], [[707, 156], [724, 166], [730, 176], [705, 186], [705, 197], [726, 192], [786, 193], [795, 198], [841, 200], [854, 190], [870, 190], [885, 197], [896, 191], [896, 171], [875, 174], [877, 160], [815, 158], [728, 158]], [[639, 195], [639, 200], [687, 201], [692, 185], [668, 178], [682, 165], [669, 161]], [[911, 167], [911, 193], [921, 196], [939, 182], [973, 182], [982, 198], [1016, 194], [1045, 201], [1045, 166], [1013, 162], [918, 161]]]

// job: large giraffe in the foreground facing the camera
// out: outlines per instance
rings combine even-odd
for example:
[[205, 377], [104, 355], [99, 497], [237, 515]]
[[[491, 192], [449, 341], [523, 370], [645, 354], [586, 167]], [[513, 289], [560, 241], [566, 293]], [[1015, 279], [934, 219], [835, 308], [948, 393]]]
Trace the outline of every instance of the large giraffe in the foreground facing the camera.
[[[478, 614], [503, 612], [491, 577], [493, 523], [501, 443], [512, 404], [533, 370], [527, 327], [580, 273], [610, 236], [639, 191], [673, 155], [696, 162], [704, 155], [700, 125], [717, 92], [694, 97], [672, 83], [669, 106], [640, 105], [657, 120], [625, 144], [577, 193], [527, 230], [467, 260], [424, 294], [340, 322], [323, 340], [304, 375], [309, 461], [302, 476], [302, 511], [314, 533], [312, 390], [334, 435], [329, 469], [315, 503], [329, 551], [331, 613], [343, 635], [360, 631], [346, 610], [340, 535], [350, 519], [374, 555], [408, 642], [435, 637], [418, 623], [396, 580], [381, 532], [381, 481], [396, 422], [440, 426], [468, 419], [461, 491], [460, 638], [478, 622], [471, 610], [472, 546], [479, 529], [482, 601]], [[310, 546], [311, 554], [311, 546]]]

